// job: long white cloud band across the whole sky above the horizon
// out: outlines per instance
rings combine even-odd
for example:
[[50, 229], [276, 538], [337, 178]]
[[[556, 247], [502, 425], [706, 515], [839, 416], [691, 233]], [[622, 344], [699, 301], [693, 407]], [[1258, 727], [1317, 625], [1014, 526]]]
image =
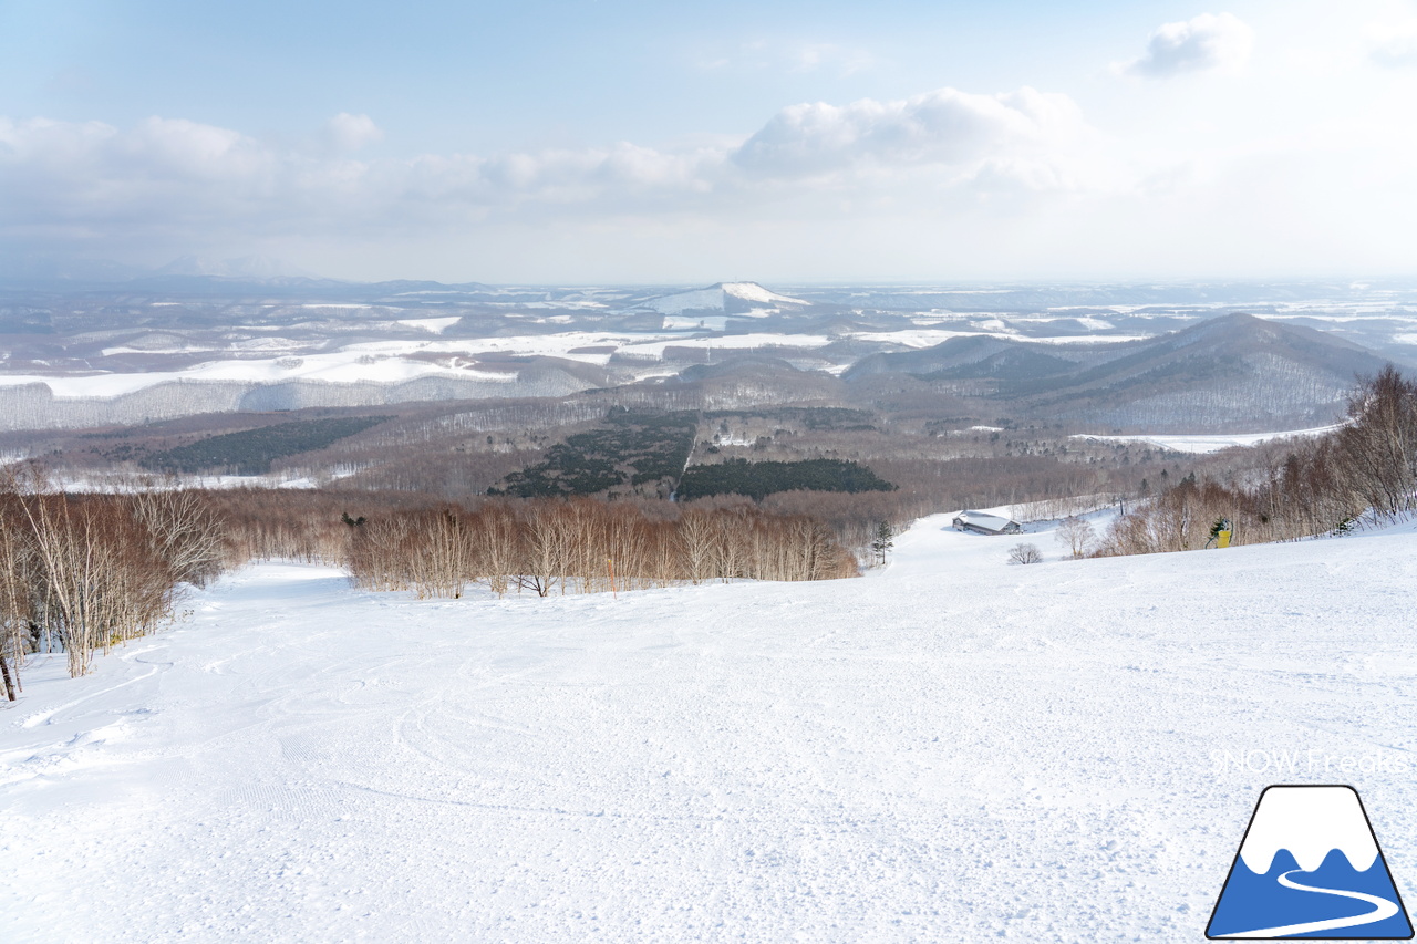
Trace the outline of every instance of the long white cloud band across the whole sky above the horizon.
[[1186, 122], [1105, 133], [1066, 95], [947, 88], [792, 105], [734, 137], [361, 160], [326, 137], [339, 118], [285, 143], [0, 119], [0, 252], [490, 281], [1397, 271], [1417, 132], [1391, 120], [1404, 84], [1355, 74], [1372, 94], [1325, 120], [1292, 84], [1187, 85]]

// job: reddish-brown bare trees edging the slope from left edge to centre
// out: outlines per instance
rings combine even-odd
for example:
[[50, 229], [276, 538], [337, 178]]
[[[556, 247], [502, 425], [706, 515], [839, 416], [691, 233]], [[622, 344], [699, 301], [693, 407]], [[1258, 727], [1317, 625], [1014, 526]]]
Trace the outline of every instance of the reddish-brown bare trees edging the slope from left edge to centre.
[[[354, 512], [354, 513], [351, 513]], [[473, 499], [296, 489], [71, 495], [43, 478], [0, 483], [0, 696], [27, 656], [96, 652], [173, 619], [184, 585], [251, 560], [344, 567], [373, 590], [461, 597], [472, 584], [538, 597], [708, 580], [857, 574], [806, 515], [670, 502]]]

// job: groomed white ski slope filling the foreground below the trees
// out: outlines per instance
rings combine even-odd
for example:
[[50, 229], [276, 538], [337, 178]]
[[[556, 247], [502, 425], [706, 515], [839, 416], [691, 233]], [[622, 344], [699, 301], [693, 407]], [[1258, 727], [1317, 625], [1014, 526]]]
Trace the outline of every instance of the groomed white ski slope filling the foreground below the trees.
[[1417, 529], [418, 601], [248, 567], [0, 709], [0, 940], [1196, 941], [1260, 791], [1417, 897]]

